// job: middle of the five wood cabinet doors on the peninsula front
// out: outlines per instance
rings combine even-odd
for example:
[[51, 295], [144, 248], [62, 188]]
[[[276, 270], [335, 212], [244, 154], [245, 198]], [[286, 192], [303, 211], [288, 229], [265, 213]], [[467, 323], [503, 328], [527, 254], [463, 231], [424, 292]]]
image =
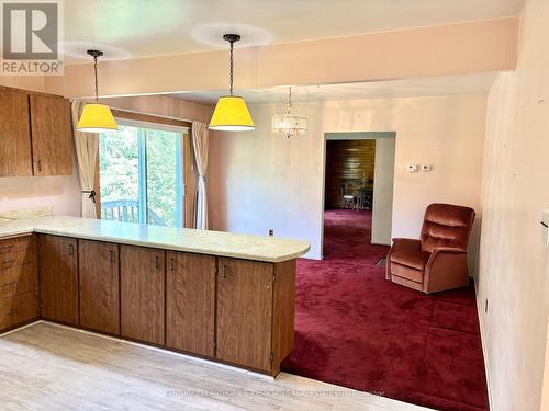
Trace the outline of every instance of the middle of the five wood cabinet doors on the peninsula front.
[[164, 250], [120, 247], [121, 334], [164, 344]]

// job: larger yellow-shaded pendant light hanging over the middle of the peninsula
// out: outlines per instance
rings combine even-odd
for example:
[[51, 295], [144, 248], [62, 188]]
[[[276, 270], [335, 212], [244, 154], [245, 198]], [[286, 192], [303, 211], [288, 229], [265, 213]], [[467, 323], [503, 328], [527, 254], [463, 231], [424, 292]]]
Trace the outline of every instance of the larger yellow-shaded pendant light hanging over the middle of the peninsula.
[[239, 95], [233, 95], [233, 46], [240, 39], [238, 34], [225, 34], [223, 39], [231, 44], [231, 88], [229, 95], [217, 100], [210, 121], [210, 129], [220, 132], [246, 132], [255, 127], [246, 101]]

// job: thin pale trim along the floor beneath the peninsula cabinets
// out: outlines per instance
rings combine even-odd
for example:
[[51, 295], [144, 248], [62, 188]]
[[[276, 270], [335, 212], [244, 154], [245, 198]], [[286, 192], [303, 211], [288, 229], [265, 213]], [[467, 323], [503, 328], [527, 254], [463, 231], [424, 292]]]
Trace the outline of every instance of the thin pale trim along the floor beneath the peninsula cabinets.
[[251, 372], [249, 369], [244, 369], [244, 368], [235, 367], [235, 366], [232, 366], [232, 365], [228, 365], [228, 364], [217, 363], [215, 361], [210, 361], [210, 359], [206, 359], [206, 358], [200, 358], [200, 357], [195, 357], [195, 356], [192, 356], [192, 355], [179, 353], [179, 352], [171, 351], [171, 350], [165, 350], [165, 349], [160, 349], [160, 347], [153, 346], [153, 345], [142, 344], [142, 343], [138, 343], [138, 342], [135, 342], [135, 341], [125, 340], [123, 338], [104, 335], [104, 334], [101, 334], [101, 333], [98, 333], [98, 332], [93, 332], [93, 331], [89, 331], [89, 330], [83, 330], [81, 328], [75, 328], [75, 327], [64, 326], [64, 324], [60, 324], [60, 323], [57, 323], [57, 322], [47, 321], [47, 320], [38, 320], [38, 321], [35, 321], [35, 322], [32, 322], [32, 323], [26, 324], [24, 327], [20, 327], [20, 328], [15, 329], [15, 330], [11, 330], [11, 331], [9, 331], [5, 334], [2, 334], [0, 336], [7, 335], [7, 334], [15, 332], [15, 331], [21, 331], [21, 330], [23, 330], [23, 329], [25, 329], [27, 327], [32, 327], [32, 326], [35, 326], [37, 323], [45, 323], [45, 324], [57, 327], [57, 328], [61, 328], [61, 329], [65, 329], [65, 330], [70, 330], [70, 331], [74, 331], [74, 332], [80, 332], [80, 333], [83, 333], [83, 334], [98, 336], [98, 338], [110, 340], [110, 341], [113, 341], [113, 342], [119, 342], [119, 343], [122, 343], [122, 344], [127, 344], [127, 345], [138, 346], [141, 349], [156, 351], [158, 353], [173, 355], [173, 356], [187, 359], [187, 361], [195, 363], [195, 364], [211, 365], [211, 366], [214, 366], [214, 367], [229, 369], [232, 372], [236, 372], [236, 373], [240, 373], [240, 374], [245, 374], [245, 375], [249, 375], [249, 376], [254, 376], [254, 377], [259, 377], [259, 378], [262, 378], [262, 379], [266, 379], [266, 380], [270, 380], [270, 381], [272, 381], [272, 380], [276, 379], [276, 377], [272, 377], [270, 375]]

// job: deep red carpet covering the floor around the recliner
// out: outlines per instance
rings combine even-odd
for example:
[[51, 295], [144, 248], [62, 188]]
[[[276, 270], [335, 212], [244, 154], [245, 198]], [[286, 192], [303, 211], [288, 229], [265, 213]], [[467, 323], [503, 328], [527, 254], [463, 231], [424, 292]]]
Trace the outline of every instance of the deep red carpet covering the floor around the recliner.
[[440, 410], [488, 409], [473, 287], [427, 296], [385, 281], [371, 214], [326, 212], [323, 261], [298, 262], [288, 373]]

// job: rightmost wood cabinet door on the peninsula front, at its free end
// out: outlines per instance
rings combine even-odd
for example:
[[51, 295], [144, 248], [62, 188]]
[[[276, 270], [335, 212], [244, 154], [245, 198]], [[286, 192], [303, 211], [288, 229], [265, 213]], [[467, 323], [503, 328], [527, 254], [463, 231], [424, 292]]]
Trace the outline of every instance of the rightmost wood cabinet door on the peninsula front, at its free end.
[[235, 259], [219, 265], [216, 357], [270, 372], [273, 266]]

